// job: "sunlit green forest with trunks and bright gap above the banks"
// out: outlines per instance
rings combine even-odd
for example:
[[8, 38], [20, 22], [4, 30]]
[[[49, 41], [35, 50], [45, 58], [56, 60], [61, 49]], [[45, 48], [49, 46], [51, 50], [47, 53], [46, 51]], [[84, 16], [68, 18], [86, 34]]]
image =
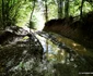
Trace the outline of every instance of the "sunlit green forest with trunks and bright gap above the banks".
[[0, 25], [1, 28], [34, 25], [43, 29], [46, 21], [81, 16], [92, 11], [92, 0], [1, 0]]

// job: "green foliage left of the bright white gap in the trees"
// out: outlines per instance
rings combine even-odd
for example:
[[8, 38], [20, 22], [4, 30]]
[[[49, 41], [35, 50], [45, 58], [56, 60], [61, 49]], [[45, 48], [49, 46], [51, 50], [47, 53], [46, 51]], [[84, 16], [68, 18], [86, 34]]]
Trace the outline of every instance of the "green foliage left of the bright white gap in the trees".
[[30, 0], [2, 0], [2, 2], [0, 2], [0, 5], [2, 5], [0, 8], [2, 26], [7, 27], [15, 24], [20, 26], [27, 23], [32, 4]]

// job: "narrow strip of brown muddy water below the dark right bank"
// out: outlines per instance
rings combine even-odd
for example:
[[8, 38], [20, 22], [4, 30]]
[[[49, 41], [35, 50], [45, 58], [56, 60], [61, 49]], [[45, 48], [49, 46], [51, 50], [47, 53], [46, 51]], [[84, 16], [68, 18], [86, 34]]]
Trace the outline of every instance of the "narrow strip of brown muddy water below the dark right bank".
[[66, 37], [62, 37], [60, 35], [57, 35], [57, 39], [61, 42], [65, 42], [66, 46], [70, 47], [71, 49], [73, 49], [75, 52], [78, 52], [79, 54], [84, 54], [86, 52], [86, 49], [85, 47], [77, 43], [75, 41], [69, 39], [69, 38], [66, 38]]

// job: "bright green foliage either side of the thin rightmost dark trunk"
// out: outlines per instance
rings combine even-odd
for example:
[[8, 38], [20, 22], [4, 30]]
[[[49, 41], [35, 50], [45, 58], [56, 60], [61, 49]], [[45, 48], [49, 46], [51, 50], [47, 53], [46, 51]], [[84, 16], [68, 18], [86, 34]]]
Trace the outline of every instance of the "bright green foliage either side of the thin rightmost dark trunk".
[[[70, 15], [80, 15], [81, 0], [70, 1]], [[92, 4], [89, 1], [84, 1], [83, 13], [92, 11]]]

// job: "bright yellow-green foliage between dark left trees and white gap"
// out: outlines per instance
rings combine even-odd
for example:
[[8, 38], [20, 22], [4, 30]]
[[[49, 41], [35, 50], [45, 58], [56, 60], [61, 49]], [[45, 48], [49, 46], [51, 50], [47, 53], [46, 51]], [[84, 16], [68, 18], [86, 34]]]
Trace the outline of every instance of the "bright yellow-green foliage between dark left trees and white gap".
[[23, 2], [20, 5], [19, 12], [15, 16], [16, 25], [23, 26], [30, 21], [30, 14], [32, 12], [32, 2]]

